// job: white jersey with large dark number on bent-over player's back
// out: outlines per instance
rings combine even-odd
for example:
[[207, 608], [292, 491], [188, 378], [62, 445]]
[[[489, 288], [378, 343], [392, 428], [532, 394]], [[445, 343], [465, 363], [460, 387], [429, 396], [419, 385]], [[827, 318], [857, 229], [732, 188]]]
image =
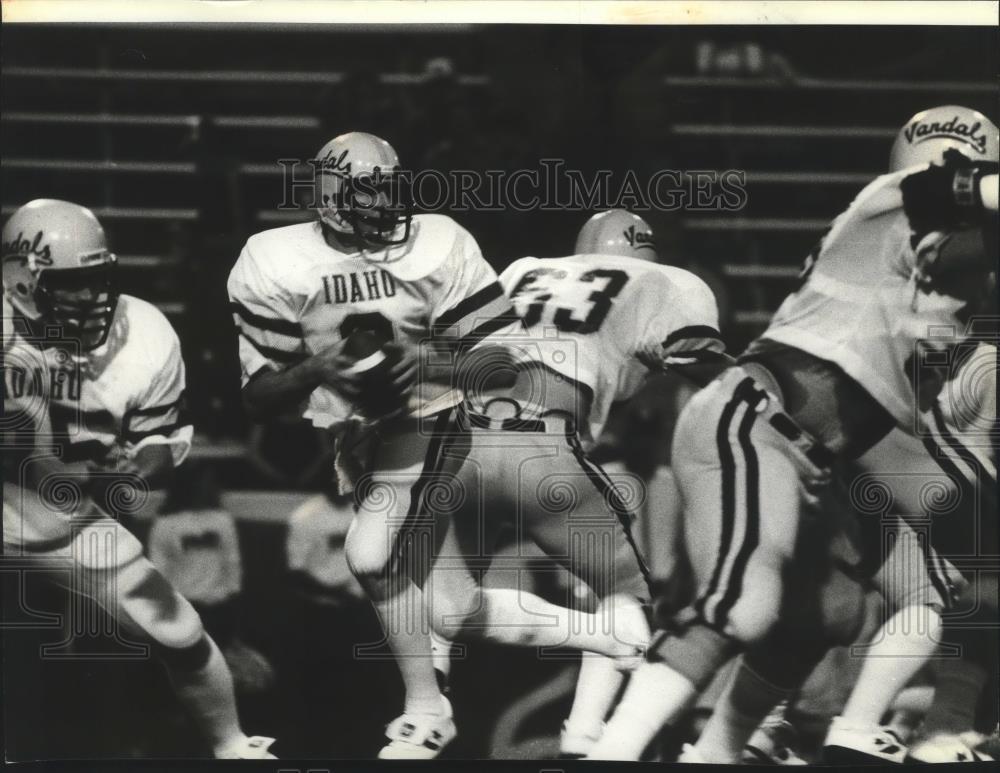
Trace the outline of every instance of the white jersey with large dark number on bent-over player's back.
[[521, 258], [500, 283], [528, 328], [528, 359], [593, 393], [590, 433], [650, 370], [722, 352], [715, 296], [690, 271], [615, 255]]

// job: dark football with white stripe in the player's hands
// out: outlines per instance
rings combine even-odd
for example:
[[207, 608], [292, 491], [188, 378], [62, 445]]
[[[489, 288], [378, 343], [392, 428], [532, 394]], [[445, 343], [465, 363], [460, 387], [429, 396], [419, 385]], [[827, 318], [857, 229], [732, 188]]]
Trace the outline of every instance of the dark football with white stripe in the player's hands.
[[385, 417], [406, 407], [412, 381], [400, 383], [404, 365], [400, 347], [370, 330], [355, 330], [344, 341], [343, 354], [353, 363], [346, 373], [358, 381], [360, 394], [355, 403], [364, 416]]

